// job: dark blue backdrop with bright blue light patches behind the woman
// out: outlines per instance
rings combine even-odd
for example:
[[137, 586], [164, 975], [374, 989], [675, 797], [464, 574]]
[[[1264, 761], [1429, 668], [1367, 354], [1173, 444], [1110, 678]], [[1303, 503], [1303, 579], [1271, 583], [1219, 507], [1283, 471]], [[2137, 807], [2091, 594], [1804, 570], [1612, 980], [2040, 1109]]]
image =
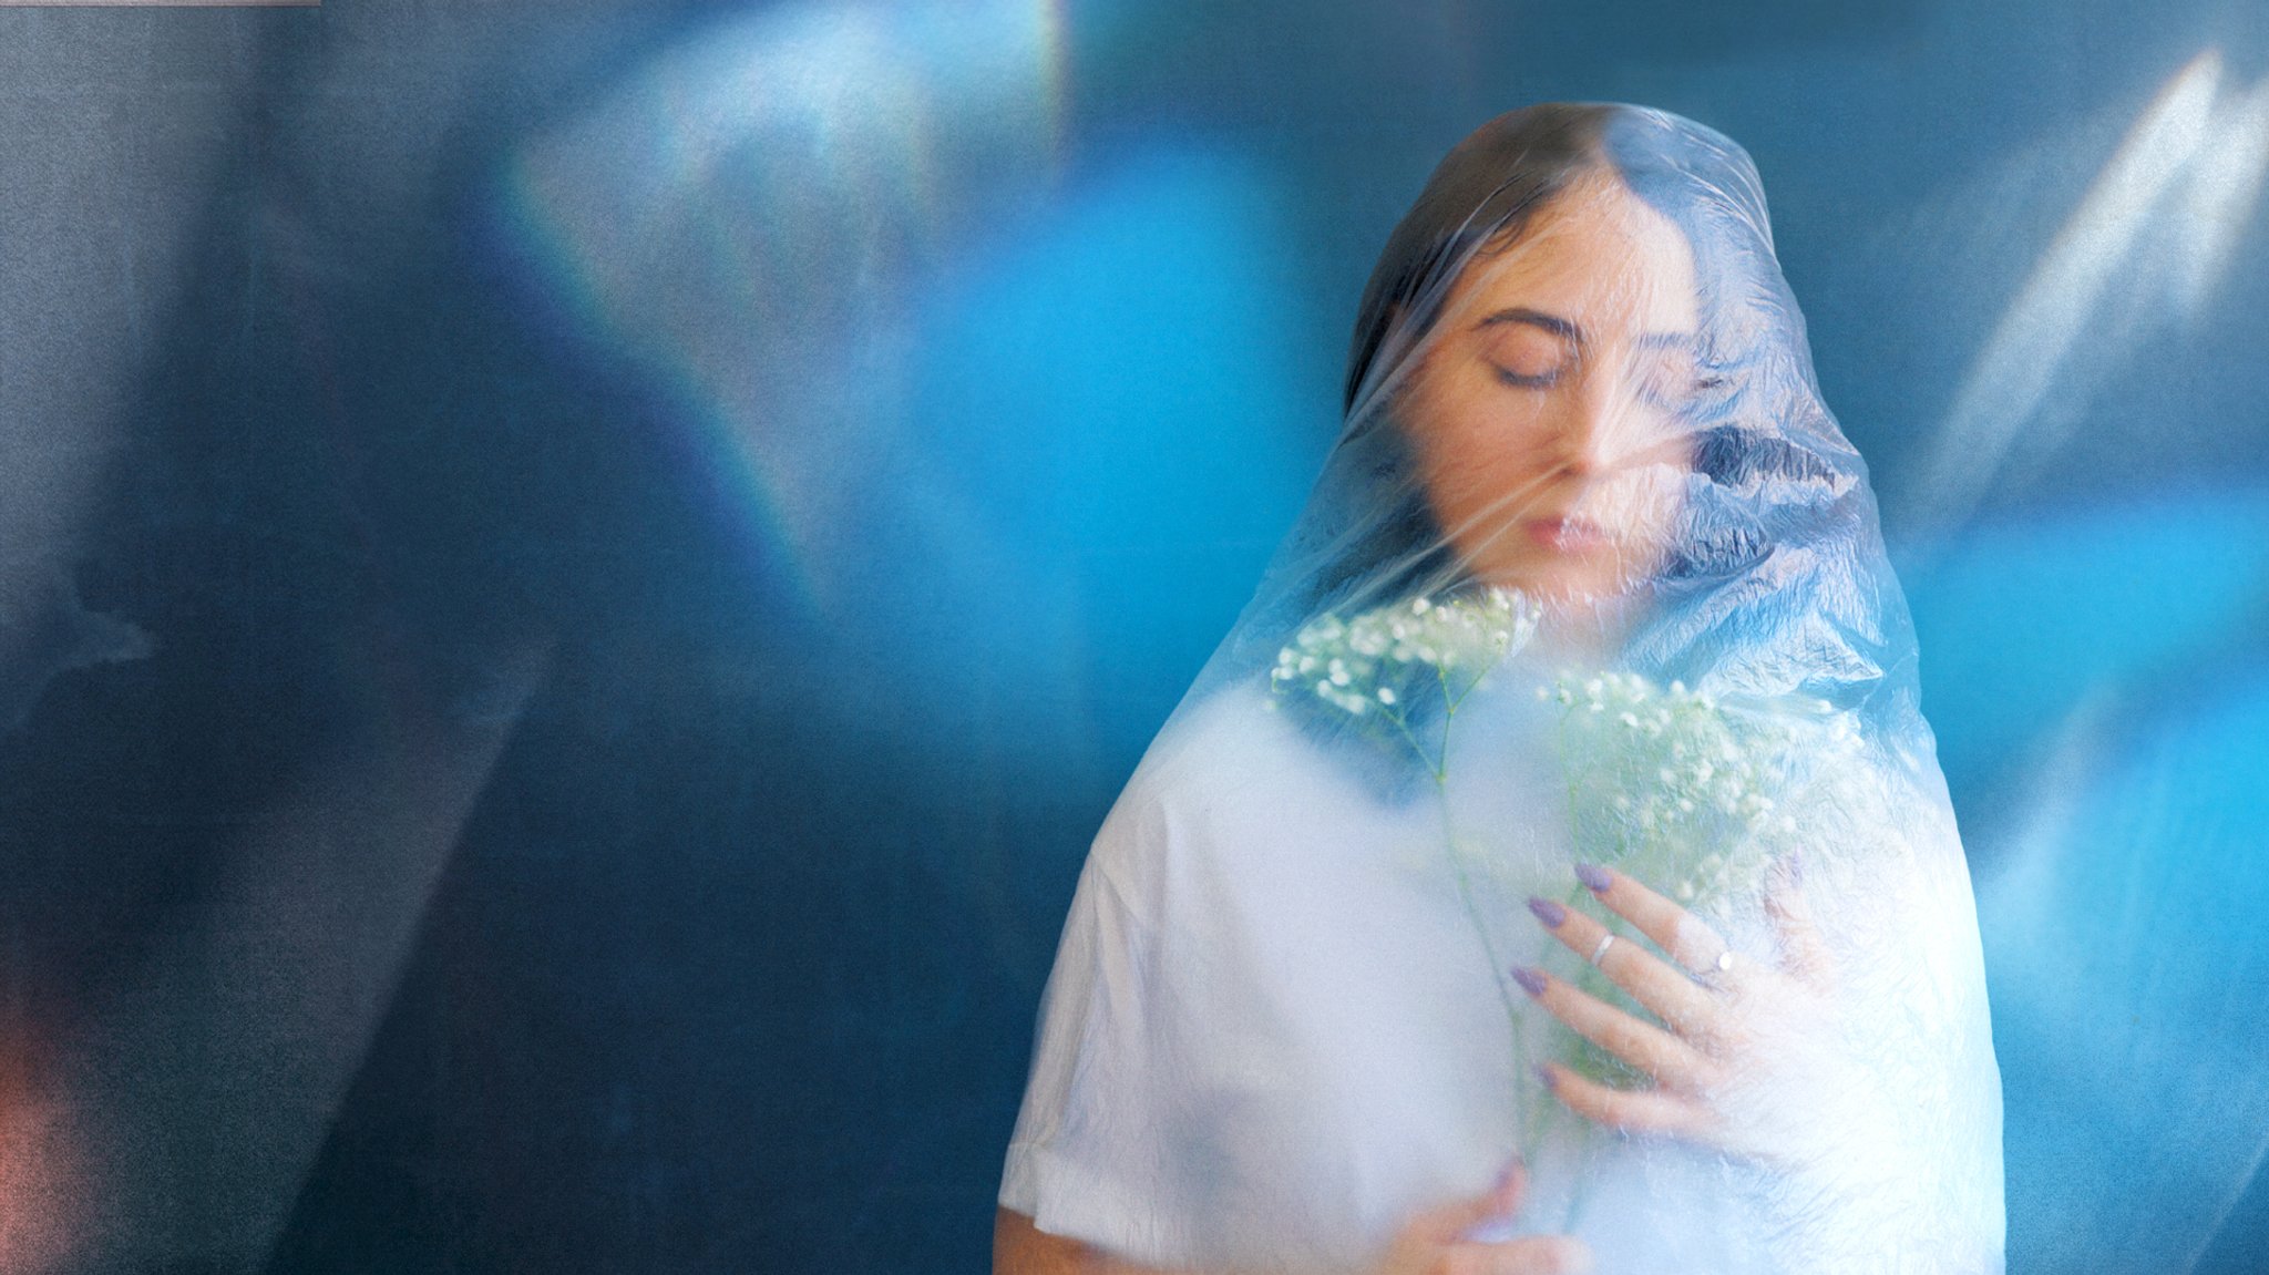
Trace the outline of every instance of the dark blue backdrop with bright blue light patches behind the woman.
[[2240, 0], [0, 11], [0, 1252], [982, 1270], [1373, 254], [1575, 98], [1763, 172], [2010, 1268], [2262, 1268], [2264, 84]]

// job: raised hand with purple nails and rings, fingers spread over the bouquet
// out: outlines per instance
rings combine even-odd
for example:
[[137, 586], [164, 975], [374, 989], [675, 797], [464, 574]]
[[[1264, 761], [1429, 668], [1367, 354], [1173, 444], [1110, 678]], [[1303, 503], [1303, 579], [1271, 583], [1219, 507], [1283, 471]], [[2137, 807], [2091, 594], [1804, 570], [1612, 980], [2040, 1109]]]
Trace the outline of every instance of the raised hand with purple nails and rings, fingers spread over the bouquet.
[[[1849, 1112], [1865, 1100], [1867, 1071], [1840, 1048], [1838, 971], [1793, 862], [1774, 864], [1765, 889], [1781, 966], [1731, 953], [1715, 930], [1620, 871], [1584, 864], [1577, 876], [1670, 960], [1627, 937], [1600, 957], [1600, 971], [1656, 1014], [1659, 1025], [1538, 969], [1513, 971], [1554, 1019], [1654, 1078], [1652, 1089], [1611, 1089], [1543, 1064], [1538, 1073], [1568, 1109], [1622, 1132], [1668, 1134], [1786, 1166], [1817, 1143], [1808, 1112]], [[1609, 932], [1559, 903], [1532, 898], [1529, 910], [1584, 960]]]

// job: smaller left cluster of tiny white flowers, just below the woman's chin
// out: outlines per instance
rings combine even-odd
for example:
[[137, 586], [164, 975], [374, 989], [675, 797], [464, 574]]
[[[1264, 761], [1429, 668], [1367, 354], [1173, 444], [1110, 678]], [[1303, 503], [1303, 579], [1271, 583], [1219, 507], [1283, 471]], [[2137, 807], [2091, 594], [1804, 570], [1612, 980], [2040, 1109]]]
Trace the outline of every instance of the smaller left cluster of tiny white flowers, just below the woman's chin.
[[1277, 651], [1268, 685], [1311, 692], [1350, 717], [1380, 710], [1400, 717], [1411, 674], [1432, 669], [1429, 681], [1454, 703], [1536, 633], [1536, 615], [1527, 594], [1507, 588], [1445, 601], [1414, 597], [1355, 619], [1323, 615]]

